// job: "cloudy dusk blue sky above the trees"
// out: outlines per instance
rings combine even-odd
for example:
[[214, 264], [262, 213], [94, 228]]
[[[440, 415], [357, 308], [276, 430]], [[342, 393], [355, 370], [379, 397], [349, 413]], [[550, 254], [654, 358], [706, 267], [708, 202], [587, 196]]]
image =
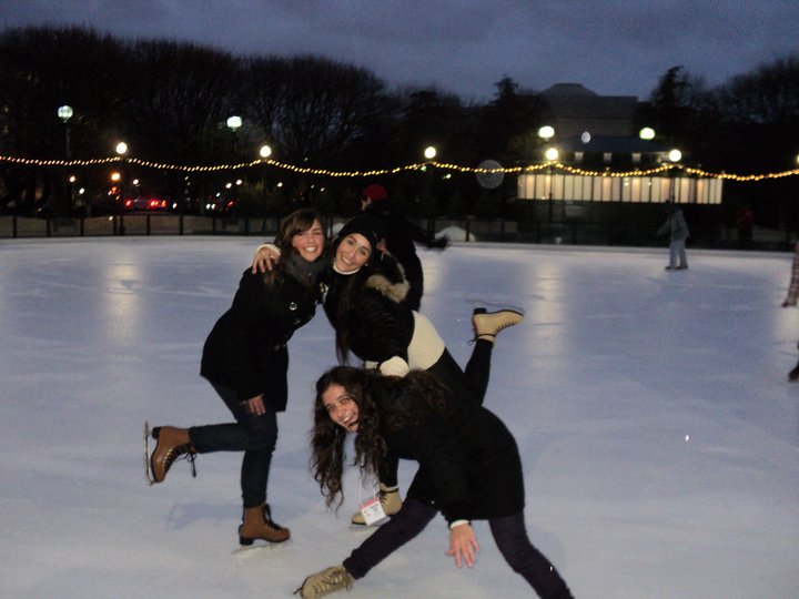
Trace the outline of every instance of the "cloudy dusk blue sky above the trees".
[[493, 98], [513, 78], [649, 97], [681, 65], [709, 87], [799, 51], [796, 0], [3, 0], [0, 28], [92, 27], [246, 55], [314, 54], [390, 88]]

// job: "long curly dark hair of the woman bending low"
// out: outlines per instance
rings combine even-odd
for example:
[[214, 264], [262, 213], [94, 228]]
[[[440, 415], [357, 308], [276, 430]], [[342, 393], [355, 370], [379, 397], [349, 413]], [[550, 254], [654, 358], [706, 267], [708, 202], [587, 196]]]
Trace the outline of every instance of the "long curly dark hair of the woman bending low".
[[377, 370], [335, 366], [316, 382], [310, 466], [331, 507], [344, 501], [342, 475], [346, 460], [346, 430], [334, 423], [322, 402], [331, 385], [341, 385], [358, 407], [355, 457], [361, 476], [377, 477], [387, 453], [385, 435], [445, 416], [451, 406], [447, 388], [432, 374], [414, 370], [405, 377], [382, 376]]

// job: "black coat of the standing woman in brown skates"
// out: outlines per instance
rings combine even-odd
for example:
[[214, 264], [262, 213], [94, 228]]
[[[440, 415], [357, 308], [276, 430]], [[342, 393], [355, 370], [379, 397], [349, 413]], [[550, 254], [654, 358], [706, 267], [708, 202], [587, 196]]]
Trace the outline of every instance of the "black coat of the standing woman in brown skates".
[[275, 412], [286, 407], [286, 343], [316, 311], [318, 285], [277, 268], [274, 276], [244, 271], [233, 304], [205, 339], [200, 374], [235, 389], [244, 402], [264, 394]]

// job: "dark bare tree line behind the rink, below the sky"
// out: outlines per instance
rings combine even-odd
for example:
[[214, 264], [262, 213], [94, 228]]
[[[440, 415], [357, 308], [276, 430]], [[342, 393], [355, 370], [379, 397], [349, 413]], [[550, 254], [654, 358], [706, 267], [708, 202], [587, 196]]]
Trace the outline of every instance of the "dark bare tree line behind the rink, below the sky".
[[[64, 104], [73, 109], [65, 123], [57, 114]], [[544, 98], [507, 75], [492, 100], [476, 103], [436, 88], [393, 90], [366, 69], [323, 57], [233, 55], [188, 42], [51, 27], [0, 33], [0, 153], [9, 156], [101, 158], [124, 140], [142, 160], [214, 165], [250, 162], [269, 144], [283, 163], [336, 171], [417, 163], [427, 145], [447, 163], [529, 164], [537, 161], [536, 132], [548, 118]], [[235, 131], [226, 124], [231, 115], [242, 118]], [[717, 88], [674, 67], [639, 103], [637, 120], [655, 128], [656, 141], [678, 145], [707, 170], [795, 167], [799, 58], [776, 59]], [[239, 194], [244, 212], [280, 213], [303, 202], [347, 213], [365, 184], [265, 167], [190, 175], [127, 169], [125, 176], [146, 181], [181, 210], [237, 177], [244, 184], [230, 193]], [[34, 213], [47, 206], [65, 214], [73, 200], [67, 174], [0, 163], [0, 209]], [[95, 193], [108, 187], [108, 166], [83, 167], [79, 176]], [[496, 190], [482, 189], [472, 174], [445, 180], [414, 171], [385, 182], [418, 216], [507, 216], [502, 212], [514, 195], [510, 179]], [[782, 186], [780, 193], [796, 191], [792, 183]]]

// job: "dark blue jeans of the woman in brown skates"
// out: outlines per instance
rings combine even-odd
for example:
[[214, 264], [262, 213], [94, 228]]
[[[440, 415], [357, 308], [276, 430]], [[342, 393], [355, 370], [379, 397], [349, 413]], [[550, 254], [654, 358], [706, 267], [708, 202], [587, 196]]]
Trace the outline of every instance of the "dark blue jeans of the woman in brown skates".
[[241, 469], [242, 501], [245, 508], [257, 507], [266, 501], [272, 453], [277, 443], [277, 414], [269, 407], [261, 416], [250, 414], [235, 390], [212, 385], [236, 422], [193, 426], [189, 429], [189, 438], [198, 454], [244, 451]]

